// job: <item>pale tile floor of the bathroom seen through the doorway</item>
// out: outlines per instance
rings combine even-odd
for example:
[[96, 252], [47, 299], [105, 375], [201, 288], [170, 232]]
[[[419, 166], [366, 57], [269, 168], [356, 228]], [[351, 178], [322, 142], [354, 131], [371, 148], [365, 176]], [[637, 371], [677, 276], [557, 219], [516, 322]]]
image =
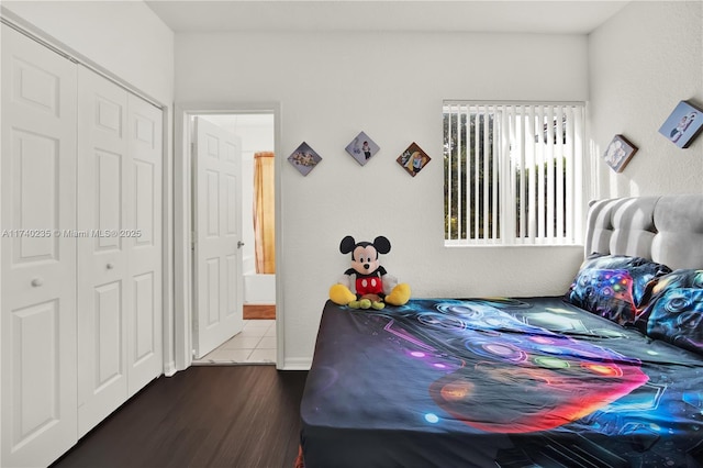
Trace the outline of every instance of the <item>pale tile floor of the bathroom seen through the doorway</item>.
[[193, 366], [276, 364], [276, 321], [245, 320], [242, 333], [193, 360]]

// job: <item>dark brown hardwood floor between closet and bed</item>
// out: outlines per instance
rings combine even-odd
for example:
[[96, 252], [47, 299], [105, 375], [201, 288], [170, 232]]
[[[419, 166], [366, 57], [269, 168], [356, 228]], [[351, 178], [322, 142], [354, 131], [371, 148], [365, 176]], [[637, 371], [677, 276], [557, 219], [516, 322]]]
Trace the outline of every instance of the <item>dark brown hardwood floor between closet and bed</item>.
[[196, 366], [160, 377], [52, 467], [292, 468], [306, 375]]

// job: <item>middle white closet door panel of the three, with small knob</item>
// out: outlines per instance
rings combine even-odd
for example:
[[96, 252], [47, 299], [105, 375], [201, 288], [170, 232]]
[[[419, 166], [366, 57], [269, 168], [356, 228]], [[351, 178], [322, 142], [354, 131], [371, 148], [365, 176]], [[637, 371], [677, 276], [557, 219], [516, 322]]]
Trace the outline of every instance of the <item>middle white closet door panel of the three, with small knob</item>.
[[78, 68], [78, 434], [127, 394], [127, 92]]

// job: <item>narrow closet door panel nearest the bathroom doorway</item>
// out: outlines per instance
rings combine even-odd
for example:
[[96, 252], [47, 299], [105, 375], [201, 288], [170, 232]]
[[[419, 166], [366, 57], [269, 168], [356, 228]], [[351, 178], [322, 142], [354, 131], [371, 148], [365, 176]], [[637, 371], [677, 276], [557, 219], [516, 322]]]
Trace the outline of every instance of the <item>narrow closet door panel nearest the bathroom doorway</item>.
[[127, 170], [129, 395], [158, 377], [161, 347], [161, 111], [130, 94]]

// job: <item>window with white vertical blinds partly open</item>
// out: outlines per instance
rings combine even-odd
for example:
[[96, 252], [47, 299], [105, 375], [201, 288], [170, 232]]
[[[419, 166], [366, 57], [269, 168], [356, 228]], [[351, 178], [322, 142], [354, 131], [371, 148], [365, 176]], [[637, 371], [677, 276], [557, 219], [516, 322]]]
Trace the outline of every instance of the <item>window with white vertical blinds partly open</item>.
[[583, 112], [583, 103], [445, 101], [445, 245], [576, 244]]

